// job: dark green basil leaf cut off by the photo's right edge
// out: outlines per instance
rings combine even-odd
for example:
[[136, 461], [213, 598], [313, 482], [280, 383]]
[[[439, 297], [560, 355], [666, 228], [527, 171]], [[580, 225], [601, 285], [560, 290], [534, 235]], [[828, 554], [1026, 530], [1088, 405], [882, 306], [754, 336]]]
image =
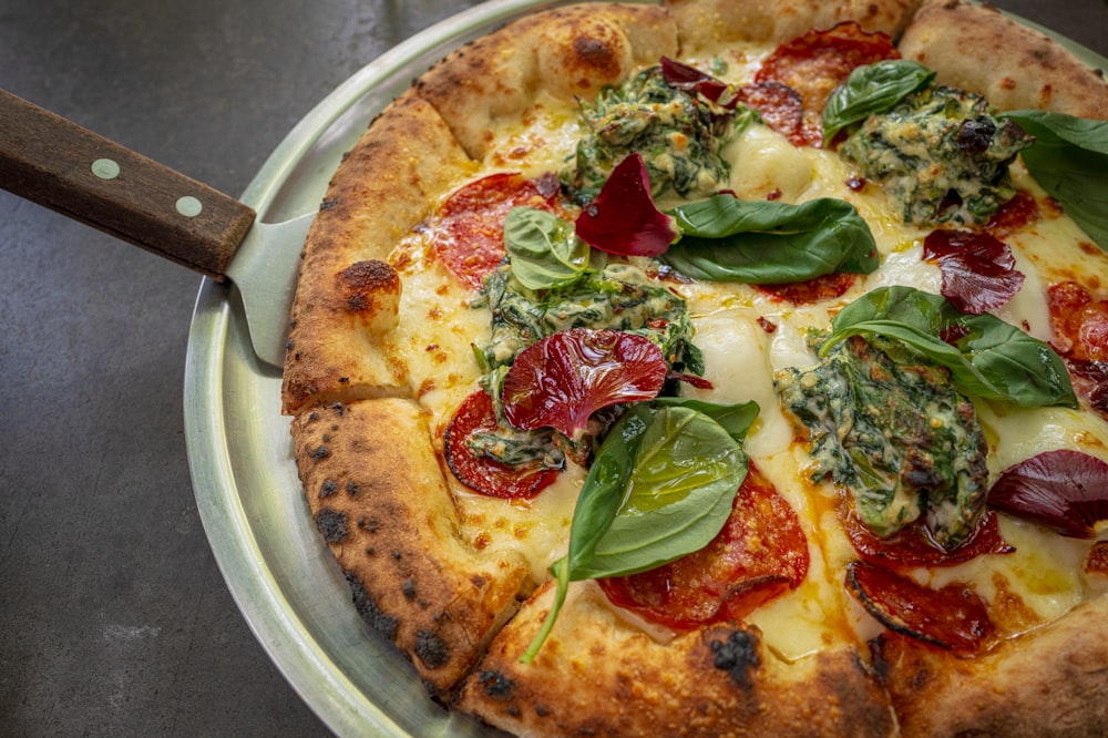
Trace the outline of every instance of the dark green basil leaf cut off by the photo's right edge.
[[1108, 250], [1108, 121], [1039, 110], [1010, 111], [998, 117], [1015, 121], [1035, 136], [1035, 144], [1020, 154], [1027, 171]]

